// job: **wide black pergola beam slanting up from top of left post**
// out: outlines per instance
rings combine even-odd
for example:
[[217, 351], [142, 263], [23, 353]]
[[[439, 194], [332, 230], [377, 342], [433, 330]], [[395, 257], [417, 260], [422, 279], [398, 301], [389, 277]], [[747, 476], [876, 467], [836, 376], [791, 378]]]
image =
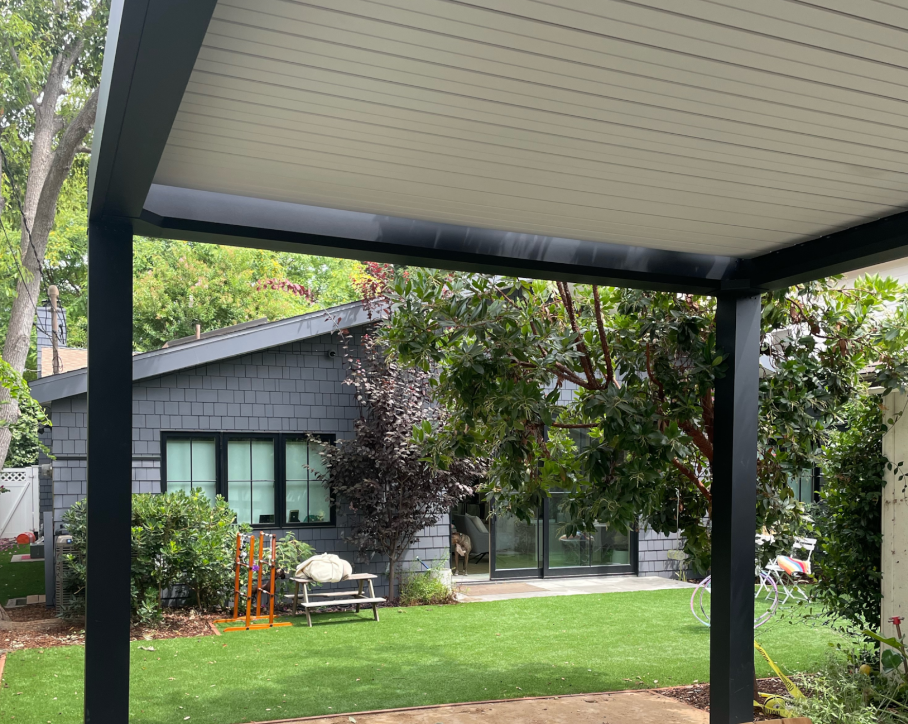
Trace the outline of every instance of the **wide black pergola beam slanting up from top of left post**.
[[88, 217], [138, 216], [217, 0], [114, 0]]

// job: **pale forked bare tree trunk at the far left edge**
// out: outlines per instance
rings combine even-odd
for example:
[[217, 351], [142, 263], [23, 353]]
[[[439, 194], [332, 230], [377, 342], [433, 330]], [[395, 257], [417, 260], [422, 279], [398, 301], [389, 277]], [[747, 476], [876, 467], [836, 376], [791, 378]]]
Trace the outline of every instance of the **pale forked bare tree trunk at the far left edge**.
[[[3, 348], [3, 358], [16, 372], [25, 372], [25, 359], [32, 339], [35, 307], [41, 294], [41, 271], [47, 239], [54, 228], [56, 203], [64, 181], [73, 166], [73, 159], [85, 135], [94, 125], [98, 105], [98, 90], [85, 101], [82, 110], [65, 126], [59, 142], [54, 138], [61, 129], [61, 119], [56, 114], [56, 102], [64, 94], [66, 73], [81, 52], [81, 45], [70, 55], [58, 55], [47, 83], [43, 98], [35, 104], [35, 135], [32, 141], [32, 158], [22, 200], [22, 232], [20, 258], [22, 275], [15, 286], [15, 300], [10, 313], [9, 328]], [[10, 398], [9, 391], [0, 388], [0, 469], [6, 461], [12, 438], [10, 427], [19, 419], [19, 405]]]

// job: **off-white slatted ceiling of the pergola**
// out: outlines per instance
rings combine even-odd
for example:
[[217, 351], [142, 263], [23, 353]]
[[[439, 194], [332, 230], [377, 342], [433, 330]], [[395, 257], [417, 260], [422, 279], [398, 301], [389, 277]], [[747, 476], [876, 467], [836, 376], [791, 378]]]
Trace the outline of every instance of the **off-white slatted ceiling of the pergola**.
[[156, 183], [679, 251], [908, 207], [908, 7], [220, 0]]

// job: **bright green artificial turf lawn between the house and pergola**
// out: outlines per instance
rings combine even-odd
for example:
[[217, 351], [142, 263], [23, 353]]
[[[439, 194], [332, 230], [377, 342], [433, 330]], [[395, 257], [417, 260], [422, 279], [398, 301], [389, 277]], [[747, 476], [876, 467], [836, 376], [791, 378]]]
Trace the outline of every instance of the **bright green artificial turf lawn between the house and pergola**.
[[[383, 609], [380, 623], [371, 611], [322, 613], [311, 629], [302, 617], [291, 628], [133, 642], [130, 720], [235, 724], [704, 681], [709, 630], [689, 600], [690, 590], [656, 590]], [[815, 670], [837, 639], [774, 620], [758, 640], [792, 671]], [[80, 721], [83, 665], [82, 647], [10, 654], [0, 721]]]

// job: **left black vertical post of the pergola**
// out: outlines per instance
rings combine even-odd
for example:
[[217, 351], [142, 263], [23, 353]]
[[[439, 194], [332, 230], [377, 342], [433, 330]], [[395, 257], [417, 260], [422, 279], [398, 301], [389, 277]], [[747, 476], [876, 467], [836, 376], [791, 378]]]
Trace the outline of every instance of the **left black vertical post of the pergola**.
[[133, 230], [88, 228], [88, 572], [85, 722], [129, 719]]

